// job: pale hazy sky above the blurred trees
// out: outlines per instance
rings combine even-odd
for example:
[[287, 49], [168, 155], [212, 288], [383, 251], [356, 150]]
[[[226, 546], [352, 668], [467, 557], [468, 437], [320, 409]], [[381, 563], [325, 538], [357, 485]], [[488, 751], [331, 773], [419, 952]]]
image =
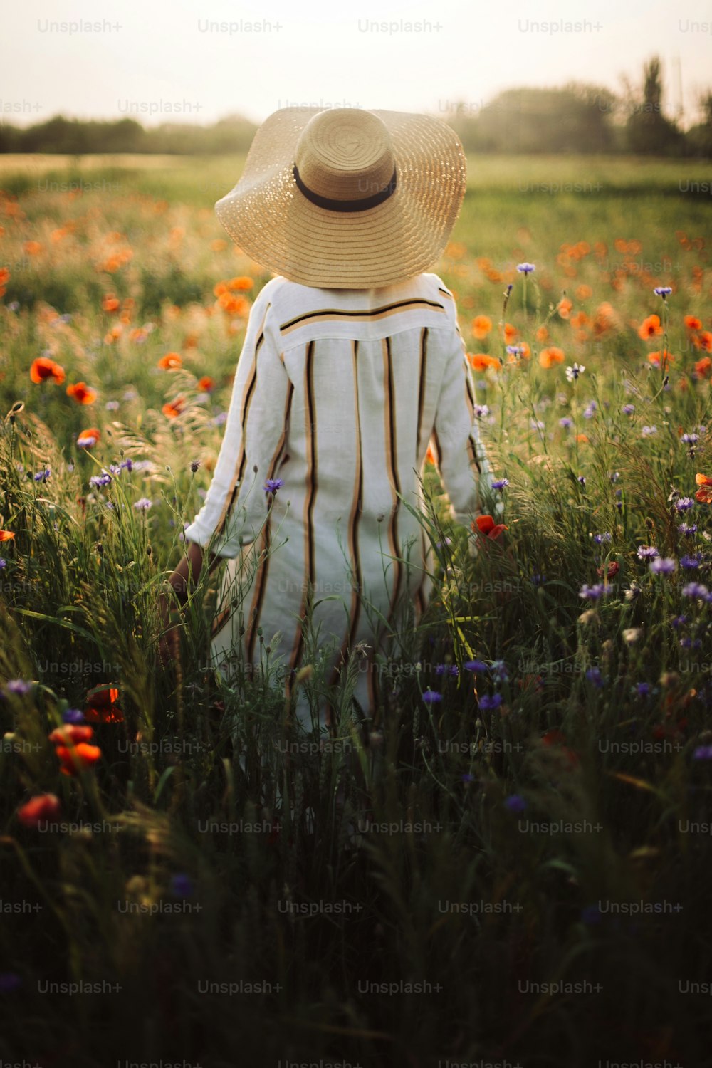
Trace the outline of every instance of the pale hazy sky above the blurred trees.
[[712, 85], [711, 30], [709, 0], [26, 0], [3, 12], [0, 114], [259, 122], [294, 104], [444, 113], [455, 100], [474, 114], [510, 87], [617, 90], [658, 53], [668, 110], [679, 59], [690, 115]]

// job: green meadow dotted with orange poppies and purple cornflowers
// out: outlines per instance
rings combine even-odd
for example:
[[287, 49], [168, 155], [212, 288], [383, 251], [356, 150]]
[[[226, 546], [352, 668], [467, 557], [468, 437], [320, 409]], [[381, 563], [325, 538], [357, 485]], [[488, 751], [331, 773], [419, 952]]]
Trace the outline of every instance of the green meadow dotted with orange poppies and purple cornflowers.
[[471, 158], [433, 269], [489, 514], [449, 521], [430, 453], [434, 593], [370, 714], [362, 650], [329, 691], [306, 644], [319, 735], [273, 635], [258, 674], [211, 666], [219, 570], [159, 656], [269, 281], [212, 211], [241, 161], [28, 159], [0, 170], [2, 1062], [712, 1065], [709, 168]]

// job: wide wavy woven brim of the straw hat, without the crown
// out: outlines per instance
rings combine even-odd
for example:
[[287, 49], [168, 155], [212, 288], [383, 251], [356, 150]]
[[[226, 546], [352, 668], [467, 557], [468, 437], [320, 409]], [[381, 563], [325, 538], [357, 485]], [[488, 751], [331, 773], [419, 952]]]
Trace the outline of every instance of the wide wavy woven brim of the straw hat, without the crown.
[[317, 207], [292, 173], [299, 135], [321, 108], [282, 108], [257, 130], [242, 177], [218, 219], [256, 263], [303, 285], [370, 288], [411, 278], [442, 255], [466, 186], [449, 126], [429, 115], [374, 111], [391, 134], [396, 188], [363, 211]]

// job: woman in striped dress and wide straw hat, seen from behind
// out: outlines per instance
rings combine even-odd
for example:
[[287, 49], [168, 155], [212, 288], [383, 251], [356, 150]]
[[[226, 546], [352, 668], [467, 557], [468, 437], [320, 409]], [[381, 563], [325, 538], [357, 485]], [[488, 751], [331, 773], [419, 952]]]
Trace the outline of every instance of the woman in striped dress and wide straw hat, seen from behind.
[[455, 300], [425, 272], [465, 183], [440, 120], [285, 108], [216, 205], [275, 276], [252, 307], [212, 482], [171, 580], [185, 600], [204, 550], [210, 568], [226, 557], [211, 651], [228, 674], [258, 670], [269, 646], [289, 695], [300, 665], [321, 655], [336, 682], [365, 647], [354, 695], [373, 713], [375, 654], [430, 592], [424, 531], [404, 504], [424, 507], [429, 444], [453, 518], [470, 529], [480, 512], [489, 466]]

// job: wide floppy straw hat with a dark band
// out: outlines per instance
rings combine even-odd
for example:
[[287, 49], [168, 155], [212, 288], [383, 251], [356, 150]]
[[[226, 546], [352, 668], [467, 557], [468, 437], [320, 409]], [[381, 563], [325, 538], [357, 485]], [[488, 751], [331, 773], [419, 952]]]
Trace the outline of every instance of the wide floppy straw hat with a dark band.
[[363, 289], [442, 254], [466, 184], [439, 119], [361, 108], [282, 108], [257, 130], [216, 214], [233, 240], [303, 285]]

